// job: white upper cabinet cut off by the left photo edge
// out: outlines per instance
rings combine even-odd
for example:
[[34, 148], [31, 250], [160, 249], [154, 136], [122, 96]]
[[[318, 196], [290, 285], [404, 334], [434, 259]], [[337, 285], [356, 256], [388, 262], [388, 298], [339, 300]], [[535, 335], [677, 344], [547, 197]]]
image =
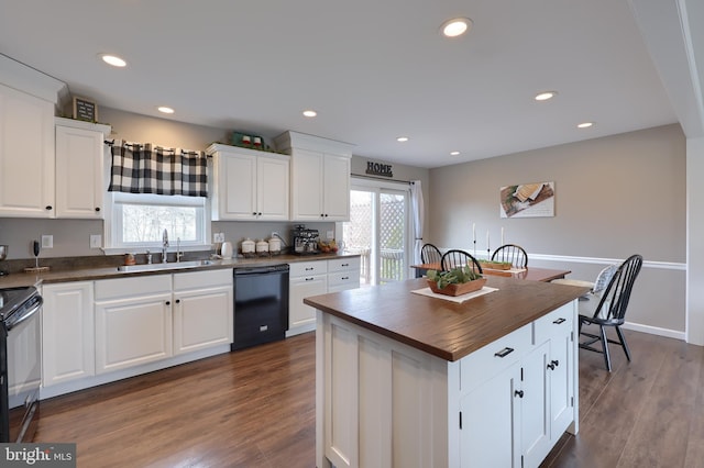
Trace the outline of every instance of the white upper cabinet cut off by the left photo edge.
[[0, 216], [54, 210], [54, 104], [0, 85]]

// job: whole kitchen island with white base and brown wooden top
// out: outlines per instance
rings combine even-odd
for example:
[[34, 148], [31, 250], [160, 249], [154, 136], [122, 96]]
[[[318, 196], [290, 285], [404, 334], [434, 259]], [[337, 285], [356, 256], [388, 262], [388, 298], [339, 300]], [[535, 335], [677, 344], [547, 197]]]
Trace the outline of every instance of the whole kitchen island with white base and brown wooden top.
[[488, 277], [463, 303], [414, 279], [307, 298], [317, 309], [319, 468], [537, 467], [576, 433], [578, 298]]

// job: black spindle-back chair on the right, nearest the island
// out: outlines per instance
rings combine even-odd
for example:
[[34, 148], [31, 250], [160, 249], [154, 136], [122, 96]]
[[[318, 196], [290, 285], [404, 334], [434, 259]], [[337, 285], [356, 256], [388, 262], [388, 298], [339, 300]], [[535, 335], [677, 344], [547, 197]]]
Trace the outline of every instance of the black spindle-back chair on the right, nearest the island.
[[[604, 355], [606, 369], [609, 372], [612, 371], [612, 360], [608, 354], [609, 343], [623, 347], [624, 353], [626, 353], [626, 359], [630, 360], [630, 350], [628, 349], [628, 344], [620, 330], [620, 325], [624, 324], [634, 282], [636, 282], [641, 267], [642, 257], [640, 255], [628, 257], [626, 261], [618, 267], [606, 289], [601, 294], [592, 298], [592, 300], [598, 299], [598, 304], [596, 309], [594, 309], [593, 314], [582, 313], [588, 309], [587, 304], [591, 301], [580, 302], [580, 336], [586, 336], [587, 338], [584, 342], [580, 342], [580, 348], [602, 353]], [[600, 327], [600, 334], [583, 332], [583, 325], [597, 325]], [[609, 339], [606, 336], [606, 326], [613, 326], [616, 330], [618, 341]], [[601, 349], [592, 346], [596, 342], [601, 343]]]

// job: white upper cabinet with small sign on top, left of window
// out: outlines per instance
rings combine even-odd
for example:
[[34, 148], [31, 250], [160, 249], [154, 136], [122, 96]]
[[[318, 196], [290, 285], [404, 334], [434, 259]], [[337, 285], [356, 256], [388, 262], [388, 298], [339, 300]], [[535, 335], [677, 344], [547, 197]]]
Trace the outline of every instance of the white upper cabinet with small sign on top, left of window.
[[109, 125], [56, 118], [56, 218], [103, 218], [109, 134]]

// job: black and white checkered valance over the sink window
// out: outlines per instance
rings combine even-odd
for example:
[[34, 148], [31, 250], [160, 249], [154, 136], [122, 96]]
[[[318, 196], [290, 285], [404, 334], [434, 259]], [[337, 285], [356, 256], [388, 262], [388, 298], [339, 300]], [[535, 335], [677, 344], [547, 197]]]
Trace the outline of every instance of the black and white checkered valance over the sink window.
[[204, 152], [118, 140], [112, 144], [108, 191], [208, 197], [207, 169]]

